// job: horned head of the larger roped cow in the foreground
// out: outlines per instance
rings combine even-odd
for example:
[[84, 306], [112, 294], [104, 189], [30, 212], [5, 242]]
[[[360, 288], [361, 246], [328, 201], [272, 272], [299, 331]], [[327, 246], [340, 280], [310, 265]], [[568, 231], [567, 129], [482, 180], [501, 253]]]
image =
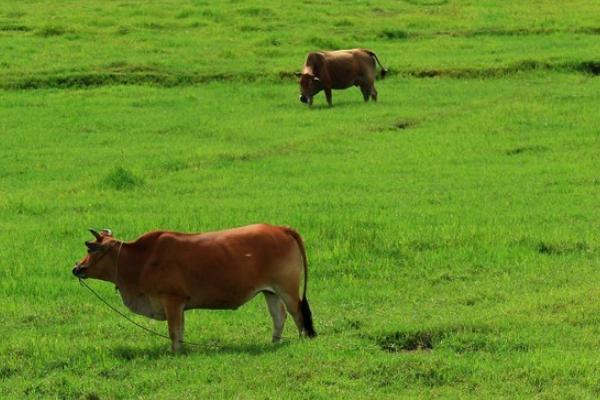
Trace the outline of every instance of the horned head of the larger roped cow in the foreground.
[[73, 275], [80, 279], [110, 280], [113, 275], [113, 260], [110, 253], [119, 242], [113, 239], [110, 229], [103, 229], [100, 232], [90, 229], [90, 232], [96, 240], [85, 242], [87, 255], [75, 263]]

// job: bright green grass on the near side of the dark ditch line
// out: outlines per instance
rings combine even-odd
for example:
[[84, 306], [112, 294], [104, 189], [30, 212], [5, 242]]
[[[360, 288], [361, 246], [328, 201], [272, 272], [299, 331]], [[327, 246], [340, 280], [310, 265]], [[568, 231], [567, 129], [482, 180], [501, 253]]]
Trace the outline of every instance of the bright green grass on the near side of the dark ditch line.
[[[597, 79], [391, 79], [3, 92], [4, 397], [594, 397]], [[130, 326], [71, 276], [89, 226], [291, 225], [320, 336], [263, 299]], [[91, 284], [113, 304], [110, 285]], [[164, 323], [137, 319], [164, 332]]]

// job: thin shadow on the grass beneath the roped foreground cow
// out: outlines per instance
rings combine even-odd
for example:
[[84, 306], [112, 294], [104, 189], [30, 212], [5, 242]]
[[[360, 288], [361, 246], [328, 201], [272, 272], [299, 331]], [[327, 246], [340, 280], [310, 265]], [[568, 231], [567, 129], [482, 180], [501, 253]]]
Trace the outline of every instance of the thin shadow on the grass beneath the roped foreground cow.
[[282, 341], [281, 343], [248, 343], [248, 344], [236, 344], [236, 343], [221, 343], [215, 341], [207, 341], [198, 344], [186, 344], [178, 353], [171, 352], [171, 345], [169, 342], [148, 346], [117, 346], [113, 349], [112, 353], [115, 357], [122, 360], [135, 360], [135, 359], [159, 359], [165, 357], [178, 357], [193, 354], [202, 355], [217, 355], [217, 354], [248, 354], [248, 355], [260, 355], [266, 353], [273, 353], [279, 349], [282, 349], [288, 345], [289, 342]]

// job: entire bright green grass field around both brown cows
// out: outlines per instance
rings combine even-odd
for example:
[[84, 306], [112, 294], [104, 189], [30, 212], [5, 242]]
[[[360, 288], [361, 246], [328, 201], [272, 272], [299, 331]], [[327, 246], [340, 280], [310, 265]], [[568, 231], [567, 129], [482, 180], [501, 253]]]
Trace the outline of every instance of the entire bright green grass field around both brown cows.
[[[0, 398], [598, 398], [599, 14], [3, 3]], [[350, 47], [380, 101], [301, 104], [306, 53]], [[186, 313], [173, 355], [71, 274], [88, 227], [255, 222], [303, 235], [315, 340], [272, 345], [259, 296]]]

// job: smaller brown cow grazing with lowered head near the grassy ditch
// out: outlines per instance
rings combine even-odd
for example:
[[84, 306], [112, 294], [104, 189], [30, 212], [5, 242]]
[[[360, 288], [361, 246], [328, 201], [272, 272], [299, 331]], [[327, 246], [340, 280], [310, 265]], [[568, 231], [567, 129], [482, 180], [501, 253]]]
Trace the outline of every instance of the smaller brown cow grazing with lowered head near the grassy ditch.
[[369, 101], [369, 97], [377, 101], [375, 61], [381, 67], [383, 79], [387, 69], [371, 50], [309, 53], [302, 72], [297, 74], [300, 77], [300, 101], [312, 105], [314, 95], [323, 90], [327, 103], [331, 106], [331, 89], [346, 89], [350, 86], [360, 87], [365, 101]]

